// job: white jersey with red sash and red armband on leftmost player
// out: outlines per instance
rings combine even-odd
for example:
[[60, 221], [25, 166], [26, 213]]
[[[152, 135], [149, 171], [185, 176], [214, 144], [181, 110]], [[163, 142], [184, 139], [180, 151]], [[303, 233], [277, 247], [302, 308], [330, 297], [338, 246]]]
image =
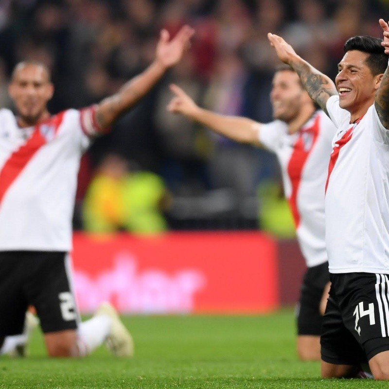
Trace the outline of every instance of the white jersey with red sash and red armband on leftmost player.
[[0, 109], [0, 250], [69, 251], [80, 158], [98, 131], [95, 108], [19, 128]]

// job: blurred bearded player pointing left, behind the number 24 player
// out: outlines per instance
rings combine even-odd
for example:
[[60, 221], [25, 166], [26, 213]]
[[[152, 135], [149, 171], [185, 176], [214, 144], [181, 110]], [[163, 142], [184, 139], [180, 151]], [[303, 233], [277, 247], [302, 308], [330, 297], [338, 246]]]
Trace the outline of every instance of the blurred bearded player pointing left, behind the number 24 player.
[[[283, 187], [297, 229], [307, 271], [297, 310], [297, 353], [302, 360], [320, 359], [322, 313], [329, 274], [324, 231], [324, 185], [336, 128], [303, 89], [298, 74], [280, 67], [273, 77], [270, 99], [275, 121], [257, 123], [243, 117], [203, 109], [176, 85], [168, 110], [199, 122], [234, 141], [276, 153]], [[320, 306], [324, 306], [321, 309]]]

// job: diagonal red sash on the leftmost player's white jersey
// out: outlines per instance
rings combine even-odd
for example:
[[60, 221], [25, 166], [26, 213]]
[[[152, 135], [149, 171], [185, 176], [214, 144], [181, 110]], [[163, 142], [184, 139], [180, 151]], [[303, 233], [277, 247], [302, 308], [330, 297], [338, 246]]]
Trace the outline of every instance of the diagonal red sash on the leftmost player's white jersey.
[[8, 188], [16, 180], [35, 153], [53, 139], [62, 123], [64, 112], [51, 117], [48, 121], [35, 125], [32, 136], [14, 151], [5, 161], [0, 171], [0, 204]]

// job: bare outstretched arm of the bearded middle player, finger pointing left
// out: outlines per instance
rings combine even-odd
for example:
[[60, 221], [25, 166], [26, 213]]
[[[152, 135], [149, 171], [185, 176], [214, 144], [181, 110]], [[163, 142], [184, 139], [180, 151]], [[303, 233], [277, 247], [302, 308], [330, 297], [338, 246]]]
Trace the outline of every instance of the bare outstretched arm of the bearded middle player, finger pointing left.
[[256, 146], [261, 145], [258, 139], [261, 124], [247, 118], [219, 115], [197, 106], [177, 85], [172, 84], [170, 89], [175, 96], [167, 106], [168, 111], [184, 115], [188, 119], [203, 124], [212, 131], [234, 141]]

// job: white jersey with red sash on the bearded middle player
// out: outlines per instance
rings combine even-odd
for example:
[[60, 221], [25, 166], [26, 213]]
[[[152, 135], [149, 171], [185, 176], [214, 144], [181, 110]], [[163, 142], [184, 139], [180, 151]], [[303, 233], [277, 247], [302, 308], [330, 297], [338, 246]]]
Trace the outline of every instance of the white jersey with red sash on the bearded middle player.
[[294, 134], [281, 121], [263, 124], [259, 130], [259, 141], [280, 161], [285, 196], [308, 267], [327, 261], [324, 187], [335, 132], [323, 111], [316, 111]]

